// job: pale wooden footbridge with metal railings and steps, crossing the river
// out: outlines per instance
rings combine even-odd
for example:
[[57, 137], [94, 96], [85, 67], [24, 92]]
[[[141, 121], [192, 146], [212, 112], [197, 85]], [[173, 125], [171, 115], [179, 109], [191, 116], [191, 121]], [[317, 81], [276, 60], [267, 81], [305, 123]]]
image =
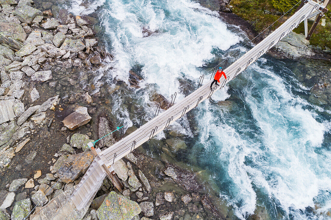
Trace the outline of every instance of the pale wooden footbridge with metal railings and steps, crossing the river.
[[[326, 1], [328, 2], [328, 1]], [[326, 4], [319, 4], [312, 0], [303, 0], [297, 11], [290, 17], [285, 18], [282, 16], [275, 23], [273, 23], [269, 29], [266, 29], [264, 35], [267, 35], [257, 45], [252, 47], [252, 41], [246, 46], [246, 50], [242, 51], [243, 55], [239, 57], [241, 51], [238, 50], [234, 54], [234, 62], [226, 67], [228, 58], [223, 62], [223, 71], [227, 75], [227, 79], [223, 80], [220, 86], [214, 85], [212, 90], [210, 85], [213, 81], [213, 76], [218, 69], [217, 66], [211, 70], [211, 77], [205, 80], [205, 75], [200, 76], [198, 88], [189, 94], [191, 85], [186, 87], [184, 92], [185, 97], [175, 103], [177, 93], [171, 96], [170, 107], [165, 111], [160, 111], [161, 103], [157, 104], [154, 118], [147, 123], [143, 124], [144, 115], [140, 115], [139, 128], [134, 132], [124, 137], [124, 127], [120, 127], [117, 130], [121, 131], [122, 139], [107, 149], [101, 151], [99, 148], [95, 149], [95, 143], [89, 143], [89, 149], [95, 156], [94, 161], [90, 165], [89, 169], [81, 179], [80, 183], [75, 186], [69, 195], [61, 195], [60, 198], [55, 198], [44, 206], [36, 215], [33, 216], [33, 220], [42, 219], [60, 219], [57, 217], [59, 213], [68, 211], [68, 207], [74, 206], [75, 210], [84, 212], [88, 202], [96, 195], [96, 192], [102, 185], [102, 182], [106, 176], [108, 176], [121, 191], [122, 185], [114, 173], [112, 165], [125, 155], [131, 153], [153, 138], [155, 135], [166, 129], [177, 119], [183, 117], [187, 112], [197, 107], [199, 103], [205, 99], [211, 97], [213, 93], [220, 88], [224, 87], [226, 83], [236, 78], [238, 74], [245, 71], [249, 65], [254, 63], [262, 55], [264, 55], [270, 48], [275, 46], [282, 38], [289, 34], [294, 28], [296, 28], [302, 21], [307, 20], [316, 15], [320, 16], [327, 11]], [[282, 23], [282, 20], [285, 20]], [[270, 30], [280, 25], [273, 32]], [[268, 33], [266, 33], [269, 30]], [[271, 32], [271, 33], [270, 33]], [[270, 34], [269, 34], [270, 33]], [[260, 35], [262, 36], [262, 35]], [[258, 36], [259, 37], [259, 36]], [[220, 64], [219, 64], [220, 65]], [[207, 76], [207, 75], [206, 75]], [[100, 139], [99, 139], [100, 140]], [[61, 201], [65, 200], [65, 201]], [[68, 203], [69, 202], [69, 203]], [[67, 205], [70, 204], [70, 205]], [[50, 211], [51, 210], [51, 211]], [[71, 213], [68, 213], [68, 219]], [[63, 216], [63, 215], [61, 215]], [[71, 217], [72, 218], [72, 217]], [[70, 219], [71, 219], [70, 218]], [[73, 218], [72, 218], [73, 219]]]

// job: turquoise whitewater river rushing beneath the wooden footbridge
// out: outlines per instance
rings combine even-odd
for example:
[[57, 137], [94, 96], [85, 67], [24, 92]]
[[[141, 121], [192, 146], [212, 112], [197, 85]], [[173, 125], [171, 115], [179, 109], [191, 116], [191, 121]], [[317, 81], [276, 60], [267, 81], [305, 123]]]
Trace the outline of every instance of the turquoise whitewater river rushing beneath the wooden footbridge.
[[[109, 82], [128, 83], [129, 70], [138, 69], [144, 79], [132, 95], [150, 114], [149, 92], [170, 96], [247, 41], [217, 12], [190, 0], [81, 3], [67, 7], [76, 15], [99, 16], [107, 50], [115, 56]], [[155, 33], [143, 37], [143, 28]], [[257, 204], [272, 219], [330, 218], [330, 112], [310, 104], [308, 91], [283, 61], [264, 55], [193, 111], [197, 128], [186, 120], [176, 123], [191, 137], [190, 151], [178, 158], [208, 169], [240, 219]], [[225, 99], [227, 107], [217, 104]], [[122, 102], [113, 112], [128, 120]]]

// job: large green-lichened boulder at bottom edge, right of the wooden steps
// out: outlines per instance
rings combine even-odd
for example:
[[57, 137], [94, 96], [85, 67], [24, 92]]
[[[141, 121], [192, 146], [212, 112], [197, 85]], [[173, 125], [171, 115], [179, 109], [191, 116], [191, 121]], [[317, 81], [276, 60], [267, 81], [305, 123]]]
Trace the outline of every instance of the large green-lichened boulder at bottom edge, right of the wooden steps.
[[122, 218], [123, 220], [131, 220], [140, 212], [141, 208], [137, 202], [133, 202], [125, 196], [112, 191], [105, 198], [100, 208], [98, 208], [97, 215], [99, 220]]

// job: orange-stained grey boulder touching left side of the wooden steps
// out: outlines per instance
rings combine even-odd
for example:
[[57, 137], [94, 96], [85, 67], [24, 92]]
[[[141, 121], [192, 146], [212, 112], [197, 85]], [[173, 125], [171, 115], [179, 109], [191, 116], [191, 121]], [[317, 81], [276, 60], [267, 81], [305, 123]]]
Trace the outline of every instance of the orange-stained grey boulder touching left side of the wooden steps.
[[69, 155], [57, 171], [61, 182], [70, 183], [78, 178], [81, 173], [85, 173], [93, 161], [91, 152]]

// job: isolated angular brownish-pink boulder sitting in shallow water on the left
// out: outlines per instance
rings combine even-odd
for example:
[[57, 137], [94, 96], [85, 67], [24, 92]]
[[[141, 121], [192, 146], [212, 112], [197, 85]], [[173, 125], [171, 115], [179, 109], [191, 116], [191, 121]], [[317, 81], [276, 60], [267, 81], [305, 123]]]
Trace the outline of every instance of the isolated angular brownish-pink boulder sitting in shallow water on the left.
[[63, 121], [63, 125], [74, 130], [80, 126], [87, 124], [91, 120], [86, 107], [78, 107], [74, 112], [68, 115]]

